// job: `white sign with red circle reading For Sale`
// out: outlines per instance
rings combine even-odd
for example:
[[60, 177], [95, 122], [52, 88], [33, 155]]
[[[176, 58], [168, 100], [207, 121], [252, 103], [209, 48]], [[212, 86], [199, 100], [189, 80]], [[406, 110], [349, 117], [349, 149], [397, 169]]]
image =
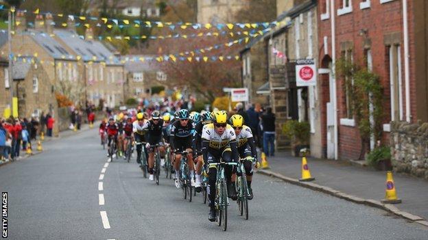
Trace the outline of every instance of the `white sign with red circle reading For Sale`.
[[316, 85], [316, 66], [313, 59], [296, 61], [296, 86], [307, 87]]

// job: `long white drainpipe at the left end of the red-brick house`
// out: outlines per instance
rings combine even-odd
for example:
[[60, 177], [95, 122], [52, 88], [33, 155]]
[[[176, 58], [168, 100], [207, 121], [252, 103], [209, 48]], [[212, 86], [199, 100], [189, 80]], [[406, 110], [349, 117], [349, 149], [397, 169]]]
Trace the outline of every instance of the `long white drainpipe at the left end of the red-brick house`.
[[335, 33], [335, 1], [330, 0], [330, 16], [331, 16], [331, 59], [332, 59], [332, 78], [333, 81], [333, 121], [334, 121], [334, 155], [335, 159], [339, 158], [339, 144], [338, 144], [338, 131], [337, 131], [337, 93], [336, 93], [336, 78], [334, 74], [335, 62], [336, 62], [336, 33]]

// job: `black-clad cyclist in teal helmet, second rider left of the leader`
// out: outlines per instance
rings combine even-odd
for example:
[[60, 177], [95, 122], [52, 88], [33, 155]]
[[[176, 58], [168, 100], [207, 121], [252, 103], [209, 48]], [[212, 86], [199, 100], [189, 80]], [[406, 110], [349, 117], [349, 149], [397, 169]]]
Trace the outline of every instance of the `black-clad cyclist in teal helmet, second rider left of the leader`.
[[180, 188], [179, 181], [179, 169], [180, 169], [180, 159], [181, 155], [178, 152], [187, 151], [187, 164], [189, 164], [190, 177], [191, 177], [191, 186], [195, 186], [195, 181], [193, 177], [195, 176], [195, 170], [193, 168], [192, 162], [192, 135], [195, 131], [195, 126], [191, 120], [189, 120], [189, 111], [187, 109], [181, 109], [178, 111], [178, 120], [176, 120], [171, 126], [171, 135], [169, 143], [171, 148], [176, 151], [176, 157], [174, 162], [174, 169], [176, 170], [176, 176], [174, 177], [176, 187]]

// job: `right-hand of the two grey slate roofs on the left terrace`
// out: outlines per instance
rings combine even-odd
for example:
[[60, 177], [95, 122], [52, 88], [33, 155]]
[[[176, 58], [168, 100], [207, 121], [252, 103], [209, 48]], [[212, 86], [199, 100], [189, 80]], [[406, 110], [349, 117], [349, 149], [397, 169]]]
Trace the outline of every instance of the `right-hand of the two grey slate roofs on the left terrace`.
[[119, 59], [110, 52], [106, 46], [96, 40], [83, 40], [71, 30], [56, 29], [53, 31], [75, 54], [80, 55], [84, 62], [106, 62], [107, 64], [120, 64]]

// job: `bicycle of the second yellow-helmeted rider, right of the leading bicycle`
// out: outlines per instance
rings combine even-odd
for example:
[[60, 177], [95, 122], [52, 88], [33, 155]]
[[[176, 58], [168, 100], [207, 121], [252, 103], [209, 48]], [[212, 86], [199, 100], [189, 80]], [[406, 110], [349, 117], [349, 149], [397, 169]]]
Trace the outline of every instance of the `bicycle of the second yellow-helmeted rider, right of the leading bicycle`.
[[245, 218], [248, 220], [248, 196], [250, 196], [250, 192], [248, 191], [247, 176], [245, 168], [243, 168], [243, 161], [253, 162], [254, 157], [246, 157], [237, 163], [237, 181], [235, 185], [237, 191], [237, 204], [239, 214], [242, 216], [245, 213]]

